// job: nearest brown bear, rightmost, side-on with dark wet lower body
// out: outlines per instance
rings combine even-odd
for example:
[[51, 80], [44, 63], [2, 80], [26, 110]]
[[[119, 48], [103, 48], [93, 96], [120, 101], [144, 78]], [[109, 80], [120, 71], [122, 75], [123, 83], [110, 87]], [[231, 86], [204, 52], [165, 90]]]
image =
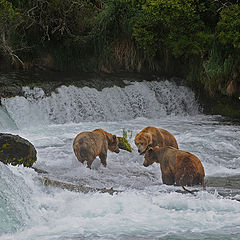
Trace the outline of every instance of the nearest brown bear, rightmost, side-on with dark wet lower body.
[[204, 168], [194, 154], [169, 146], [156, 146], [146, 151], [143, 165], [148, 167], [154, 162], [160, 163], [164, 184], [177, 186], [202, 184], [204, 187]]

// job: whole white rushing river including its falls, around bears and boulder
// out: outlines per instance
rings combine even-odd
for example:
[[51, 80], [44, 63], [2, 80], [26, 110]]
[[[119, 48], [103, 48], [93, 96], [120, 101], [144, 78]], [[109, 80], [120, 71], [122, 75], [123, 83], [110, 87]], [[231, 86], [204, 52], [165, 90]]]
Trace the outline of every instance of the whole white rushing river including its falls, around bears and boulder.
[[[47, 173], [0, 163], [0, 240], [239, 240], [240, 125], [202, 114], [189, 88], [163, 80], [23, 93], [2, 99], [0, 131], [33, 143], [34, 167]], [[206, 191], [164, 185], [158, 164], [143, 166], [134, 137], [146, 126], [170, 131], [180, 149], [201, 159]], [[72, 142], [96, 128], [127, 132], [133, 151], [108, 152], [106, 168], [98, 158], [86, 168]]]

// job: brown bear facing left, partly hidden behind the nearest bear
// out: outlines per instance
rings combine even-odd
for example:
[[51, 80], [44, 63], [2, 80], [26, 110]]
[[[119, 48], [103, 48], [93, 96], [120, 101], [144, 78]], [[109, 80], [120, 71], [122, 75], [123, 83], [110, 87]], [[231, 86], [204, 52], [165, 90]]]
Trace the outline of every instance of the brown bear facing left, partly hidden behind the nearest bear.
[[134, 142], [140, 155], [144, 154], [148, 147], [172, 146], [178, 149], [178, 144], [175, 137], [167, 130], [156, 127], [144, 128], [136, 135]]

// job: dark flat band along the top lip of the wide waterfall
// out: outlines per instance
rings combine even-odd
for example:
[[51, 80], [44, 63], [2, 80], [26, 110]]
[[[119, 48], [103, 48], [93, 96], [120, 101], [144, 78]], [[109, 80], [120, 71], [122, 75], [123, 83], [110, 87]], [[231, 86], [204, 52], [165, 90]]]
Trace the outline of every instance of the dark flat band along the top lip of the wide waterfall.
[[[126, 83], [125, 80], [128, 80]], [[43, 89], [46, 95], [57, 92], [61, 86], [89, 87], [98, 91], [104, 88], [118, 86], [124, 88], [131, 81], [156, 80], [150, 74], [119, 73], [105, 74], [100, 72], [54, 72], [54, 71], [27, 71], [8, 72], [0, 74], [0, 98], [24, 95], [22, 87], [38, 87]]]

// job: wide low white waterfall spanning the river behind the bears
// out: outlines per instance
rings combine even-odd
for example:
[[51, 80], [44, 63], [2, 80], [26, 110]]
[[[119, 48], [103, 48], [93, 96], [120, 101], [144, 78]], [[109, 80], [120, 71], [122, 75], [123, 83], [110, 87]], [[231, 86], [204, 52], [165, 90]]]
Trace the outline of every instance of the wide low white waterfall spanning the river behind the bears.
[[23, 88], [24, 96], [3, 99], [19, 128], [41, 124], [129, 120], [137, 117], [193, 115], [198, 113], [194, 93], [172, 81], [129, 82], [105, 88], [62, 86], [50, 96], [40, 88]]

